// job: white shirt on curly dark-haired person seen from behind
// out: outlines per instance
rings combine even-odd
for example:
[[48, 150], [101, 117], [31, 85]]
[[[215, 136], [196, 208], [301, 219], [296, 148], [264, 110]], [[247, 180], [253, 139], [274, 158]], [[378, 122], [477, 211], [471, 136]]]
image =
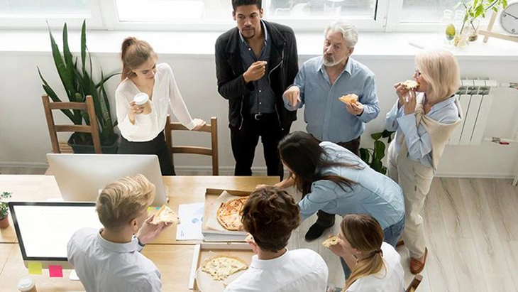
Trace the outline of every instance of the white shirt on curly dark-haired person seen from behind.
[[252, 264], [225, 292], [324, 292], [326, 262], [310, 249], [287, 251], [277, 259], [253, 256]]

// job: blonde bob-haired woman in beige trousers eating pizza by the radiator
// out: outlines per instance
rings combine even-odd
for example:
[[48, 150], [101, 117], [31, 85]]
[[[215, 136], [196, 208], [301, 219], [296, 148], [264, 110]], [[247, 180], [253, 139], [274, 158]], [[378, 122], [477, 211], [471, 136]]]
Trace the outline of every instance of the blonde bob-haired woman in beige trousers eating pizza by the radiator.
[[404, 194], [405, 222], [402, 239], [410, 252], [410, 271], [424, 269], [425, 246], [421, 213], [431, 180], [444, 147], [462, 120], [455, 97], [460, 85], [458, 63], [447, 50], [424, 50], [416, 55], [414, 80], [409, 89], [394, 85], [397, 101], [385, 117], [385, 126], [396, 131], [388, 150], [388, 175]]

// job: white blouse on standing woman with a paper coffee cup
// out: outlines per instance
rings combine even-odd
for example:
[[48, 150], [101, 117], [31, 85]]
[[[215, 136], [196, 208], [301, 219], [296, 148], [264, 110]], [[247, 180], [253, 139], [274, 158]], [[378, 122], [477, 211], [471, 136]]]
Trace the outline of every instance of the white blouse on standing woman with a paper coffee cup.
[[128, 141], [145, 142], [155, 139], [165, 128], [165, 119], [170, 114], [186, 126], [194, 129], [194, 121], [185, 106], [182, 94], [176, 85], [175, 75], [167, 63], [157, 64], [153, 96], [150, 99], [151, 113], [136, 114], [135, 124], [128, 119], [133, 97], [140, 93], [133, 81], [126, 78], [119, 84], [115, 91], [115, 105], [117, 120], [121, 135]]

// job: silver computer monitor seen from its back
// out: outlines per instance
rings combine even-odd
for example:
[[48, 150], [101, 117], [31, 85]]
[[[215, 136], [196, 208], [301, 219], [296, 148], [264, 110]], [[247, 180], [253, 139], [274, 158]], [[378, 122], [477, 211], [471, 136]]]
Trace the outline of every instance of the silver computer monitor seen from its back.
[[152, 205], [167, 202], [156, 155], [48, 153], [47, 159], [65, 201], [95, 202], [106, 184], [141, 173], [156, 187]]

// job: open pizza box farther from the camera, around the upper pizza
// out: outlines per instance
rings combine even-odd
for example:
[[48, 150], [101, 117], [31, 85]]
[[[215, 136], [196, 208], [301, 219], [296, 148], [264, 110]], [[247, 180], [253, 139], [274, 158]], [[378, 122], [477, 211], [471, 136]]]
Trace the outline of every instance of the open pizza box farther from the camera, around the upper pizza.
[[243, 190], [219, 190], [208, 188], [205, 192], [205, 209], [202, 223], [202, 234], [206, 242], [245, 242], [247, 232], [231, 231], [219, 224], [216, 211], [221, 202], [250, 195]]

